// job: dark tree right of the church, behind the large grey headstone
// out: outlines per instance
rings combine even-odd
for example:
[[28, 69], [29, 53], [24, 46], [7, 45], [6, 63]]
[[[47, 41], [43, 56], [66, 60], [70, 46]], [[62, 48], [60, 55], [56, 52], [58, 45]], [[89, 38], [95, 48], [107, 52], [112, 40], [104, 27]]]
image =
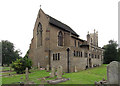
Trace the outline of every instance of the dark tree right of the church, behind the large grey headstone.
[[113, 40], [109, 41], [109, 44], [105, 45], [104, 48], [104, 63], [109, 64], [112, 61], [118, 61], [117, 56], [117, 43]]

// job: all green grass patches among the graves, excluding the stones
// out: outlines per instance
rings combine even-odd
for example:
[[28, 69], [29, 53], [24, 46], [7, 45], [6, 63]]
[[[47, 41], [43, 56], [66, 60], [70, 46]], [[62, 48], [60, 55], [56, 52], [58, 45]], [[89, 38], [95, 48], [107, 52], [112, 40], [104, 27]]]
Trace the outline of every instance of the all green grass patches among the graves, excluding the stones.
[[[103, 64], [100, 67], [95, 67], [76, 73], [65, 73], [63, 77], [70, 78], [70, 80], [60, 84], [94, 84], [95, 81], [100, 81], [102, 78], [107, 79], [106, 66], [106, 64]], [[10, 73], [15, 74], [15, 72]], [[36, 84], [41, 84], [40, 78], [49, 76], [49, 73], [50, 72], [46, 72], [45, 70], [31, 70], [31, 73], [29, 73], [29, 80]], [[23, 77], [23, 79], [21, 79], [21, 77]], [[56, 77], [49, 78], [47, 80], [55, 78]], [[17, 84], [18, 82], [25, 82], [25, 74], [15, 74], [13, 76], [2, 77], [2, 84]]]

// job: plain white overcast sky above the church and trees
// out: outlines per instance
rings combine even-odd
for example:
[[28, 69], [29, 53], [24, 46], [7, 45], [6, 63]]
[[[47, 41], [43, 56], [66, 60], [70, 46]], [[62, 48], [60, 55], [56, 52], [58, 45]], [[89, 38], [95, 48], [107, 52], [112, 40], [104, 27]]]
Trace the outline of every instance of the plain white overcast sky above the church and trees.
[[40, 5], [42, 10], [70, 26], [81, 39], [98, 31], [98, 45], [118, 42], [119, 0], [1, 0], [0, 41], [8, 40], [24, 56], [33, 37]]

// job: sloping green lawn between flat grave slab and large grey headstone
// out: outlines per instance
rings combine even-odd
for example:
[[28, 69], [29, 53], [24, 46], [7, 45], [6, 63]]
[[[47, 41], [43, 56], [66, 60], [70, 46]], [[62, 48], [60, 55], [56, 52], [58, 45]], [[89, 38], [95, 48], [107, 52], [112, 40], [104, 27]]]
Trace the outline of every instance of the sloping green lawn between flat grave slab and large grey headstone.
[[61, 84], [94, 84], [95, 81], [100, 81], [103, 78], [107, 79], [107, 69], [106, 65], [102, 65], [77, 73], [68, 73], [63, 77], [70, 78], [70, 80]]

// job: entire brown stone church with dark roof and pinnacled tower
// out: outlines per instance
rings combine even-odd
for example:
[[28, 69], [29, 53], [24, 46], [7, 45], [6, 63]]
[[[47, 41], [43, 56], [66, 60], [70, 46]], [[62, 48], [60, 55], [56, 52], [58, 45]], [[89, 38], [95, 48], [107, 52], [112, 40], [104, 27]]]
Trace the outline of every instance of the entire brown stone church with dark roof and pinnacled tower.
[[98, 47], [98, 32], [87, 34], [87, 40], [66, 24], [39, 10], [30, 44], [33, 66], [62, 66], [64, 72], [84, 70], [103, 63], [103, 49]]

